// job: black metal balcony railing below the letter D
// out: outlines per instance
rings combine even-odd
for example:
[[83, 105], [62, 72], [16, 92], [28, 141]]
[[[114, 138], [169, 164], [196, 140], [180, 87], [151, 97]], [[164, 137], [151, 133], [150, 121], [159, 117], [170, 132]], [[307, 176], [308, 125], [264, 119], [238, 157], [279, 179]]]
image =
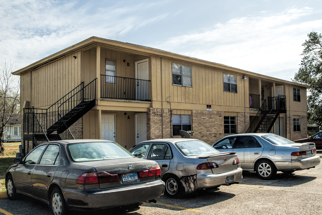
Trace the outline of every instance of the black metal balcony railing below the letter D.
[[149, 80], [101, 75], [101, 98], [151, 101]]

